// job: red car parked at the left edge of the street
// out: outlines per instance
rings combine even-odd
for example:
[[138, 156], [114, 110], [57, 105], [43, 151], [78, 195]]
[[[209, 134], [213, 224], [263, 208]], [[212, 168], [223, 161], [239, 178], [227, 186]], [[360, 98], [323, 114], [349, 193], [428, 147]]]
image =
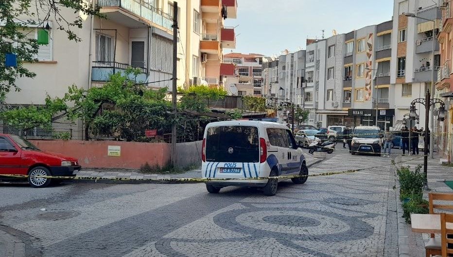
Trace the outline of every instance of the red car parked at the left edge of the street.
[[36, 176], [74, 177], [80, 168], [74, 158], [41, 151], [20, 136], [0, 134], [0, 179], [10, 179], [2, 174], [29, 175], [31, 186], [45, 187], [58, 180]]

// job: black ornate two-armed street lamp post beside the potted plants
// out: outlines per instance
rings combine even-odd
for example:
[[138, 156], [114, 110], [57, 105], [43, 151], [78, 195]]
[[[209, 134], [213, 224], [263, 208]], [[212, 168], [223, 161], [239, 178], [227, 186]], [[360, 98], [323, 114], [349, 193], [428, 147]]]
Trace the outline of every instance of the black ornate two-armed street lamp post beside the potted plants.
[[[417, 119], [417, 112], [416, 112], [417, 109], [415, 108], [416, 103], [422, 104], [425, 106], [425, 123], [426, 124], [428, 124], [428, 122], [429, 122], [429, 110], [431, 107], [433, 107], [433, 111], [434, 111], [434, 106], [436, 104], [440, 104], [439, 114], [437, 115], [437, 120], [444, 121], [444, 119], [445, 119], [445, 103], [442, 100], [437, 99], [437, 98], [431, 99], [431, 93], [429, 90], [427, 90], [424, 99], [417, 98], [411, 102], [411, 108], [410, 108], [411, 111], [409, 113], [409, 118], [411, 120]], [[428, 155], [427, 155], [428, 144], [426, 144], [428, 142], [428, 130], [429, 130], [428, 128], [425, 129], [425, 137], [424, 137], [425, 146], [424, 146], [424, 154], [423, 154], [423, 173], [425, 175], [425, 181], [423, 183], [424, 183], [425, 189], [428, 189]], [[430, 135], [432, 138], [433, 133], [431, 132]], [[430, 150], [432, 150], [432, 149], [430, 149]]]

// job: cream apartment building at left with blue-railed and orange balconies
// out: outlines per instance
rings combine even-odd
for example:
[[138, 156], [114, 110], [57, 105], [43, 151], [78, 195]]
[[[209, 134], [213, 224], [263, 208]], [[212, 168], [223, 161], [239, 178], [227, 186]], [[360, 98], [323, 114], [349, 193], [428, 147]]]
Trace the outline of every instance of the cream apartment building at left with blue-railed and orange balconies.
[[[83, 27], [74, 28], [81, 42], [69, 41], [67, 34], [57, 29], [57, 22], [49, 18], [49, 44], [40, 47], [39, 62], [25, 64], [36, 77], [18, 78], [21, 91], [10, 92], [6, 102], [12, 106], [44, 104], [47, 94], [63, 96], [73, 84], [85, 89], [102, 86], [110, 74], [123, 73], [129, 66], [140, 70], [131, 79], [148, 82], [150, 88], [171, 88], [173, 2], [93, 0], [101, 6], [106, 19], [83, 17]], [[176, 2], [179, 10], [177, 85], [220, 85], [223, 49], [234, 48], [236, 42], [234, 29], [223, 27], [223, 21], [236, 18], [236, 0]], [[61, 14], [72, 17], [73, 11], [62, 9]], [[36, 38], [36, 27], [30, 26], [29, 30], [32, 32], [29, 35]], [[81, 138], [82, 134], [74, 138]]]

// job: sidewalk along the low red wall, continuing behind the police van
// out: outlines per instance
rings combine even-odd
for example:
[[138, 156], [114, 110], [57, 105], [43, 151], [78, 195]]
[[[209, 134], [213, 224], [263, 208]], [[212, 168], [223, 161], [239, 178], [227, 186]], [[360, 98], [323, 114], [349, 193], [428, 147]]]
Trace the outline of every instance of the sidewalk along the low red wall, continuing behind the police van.
[[[314, 158], [313, 155], [306, 153], [304, 149], [304, 156], [307, 166], [317, 164], [324, 158]], [[201, 169], [189, 170], [181, 174], [144, 174], [139, 170], [133, 169], [82, 169], [77, 177], [96, 177], [105, 179], [169, 179], [169, 178], [201, 178]]]

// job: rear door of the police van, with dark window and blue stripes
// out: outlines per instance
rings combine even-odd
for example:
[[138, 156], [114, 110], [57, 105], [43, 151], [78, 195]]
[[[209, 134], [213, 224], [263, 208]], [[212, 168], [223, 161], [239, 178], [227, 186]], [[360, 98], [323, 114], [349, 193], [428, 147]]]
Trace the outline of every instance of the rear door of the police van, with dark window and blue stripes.
[[206, 133], [205, 177], [257, 177], [260, 173], [258, 128], [210, 127]]

